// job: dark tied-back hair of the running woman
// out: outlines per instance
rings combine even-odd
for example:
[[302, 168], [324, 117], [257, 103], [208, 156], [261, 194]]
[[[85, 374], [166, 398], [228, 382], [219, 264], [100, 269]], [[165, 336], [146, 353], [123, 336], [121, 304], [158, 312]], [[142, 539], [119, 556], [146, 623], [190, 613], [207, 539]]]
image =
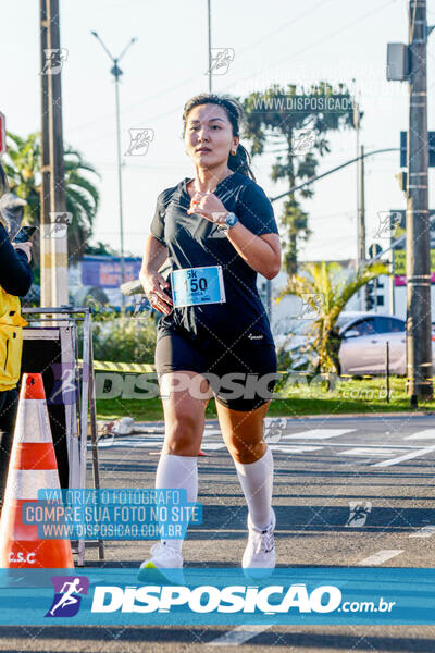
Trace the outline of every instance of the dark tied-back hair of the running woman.
[[[214, 93], [201, 93], [188, 100], [183, 110], [183, 137], [186, 133], [187, 118], [194, 107], [201, 104], [217, 104], [226, 111], [226, 115], [233, 127], [233, 136], [240, 136], [239, 125], [245, 120], [245, 111], [240, 102], [231, 96], [219, 96]], [[228, 156], [228, 168], [234, 172], [241, 172], [246, 176], [251, 177], [256, 181], [253, 172], [250, 168], [251, 158], [247, 149], [239, 143], [237, 146], [237, 152]]]

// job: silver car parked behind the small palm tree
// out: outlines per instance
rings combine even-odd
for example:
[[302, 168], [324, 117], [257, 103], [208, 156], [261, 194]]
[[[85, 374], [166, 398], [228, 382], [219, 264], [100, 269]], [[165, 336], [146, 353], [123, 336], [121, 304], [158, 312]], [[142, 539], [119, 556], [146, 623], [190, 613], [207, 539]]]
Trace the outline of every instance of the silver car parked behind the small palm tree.
[[[275, 337], [276, 347], [291, 354], [295, 369], [308, 361], [308, 332], [311, 322], [299, 321], [293, 333]], [[338, 319], [343, 337], [339, 349], [341, 374], [385, 374], [386, 343], [389, 343], [389, 371], [406, 374], [405, 320], [389, 315], [344, 311]], [[432, 360], [435, 364], [435, 331], [432, 335]], [[310, 360], [314, 364], [314, 360]]]

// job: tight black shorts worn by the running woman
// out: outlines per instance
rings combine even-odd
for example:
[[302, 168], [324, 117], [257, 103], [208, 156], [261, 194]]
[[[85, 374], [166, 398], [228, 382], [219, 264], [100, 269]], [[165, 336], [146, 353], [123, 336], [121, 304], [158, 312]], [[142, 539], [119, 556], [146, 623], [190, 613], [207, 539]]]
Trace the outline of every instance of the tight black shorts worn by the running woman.
[[236, 344], [202, 343], [175, 331], [165, 331], [158, 338], [156, 369], [159, 379], [166, 372], [198, 372], [208, 379], [217, 402], [244, 411], [269, 402], [277, 379], [273, 344], [247, 338]]

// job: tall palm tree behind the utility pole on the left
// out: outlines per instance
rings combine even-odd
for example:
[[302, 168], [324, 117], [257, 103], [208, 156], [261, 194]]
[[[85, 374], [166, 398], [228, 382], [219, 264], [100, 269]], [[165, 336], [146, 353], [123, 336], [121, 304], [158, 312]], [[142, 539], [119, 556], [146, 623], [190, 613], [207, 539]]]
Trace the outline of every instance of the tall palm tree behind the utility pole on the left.
[[[27, 201], [24, 223], [38, 225], [41, 188], [40, 134], [36, 132], [22, 138], [9, 132], [8, 155], [4, 157], [3, 164], [11, 192]], [[99, 204], [99, 192], [84, 173], [99, 175], [96, 169], [71, 147], [66, 147], [64, 152], [64, 168], [66, 210], [73, 215], [67, 232], [69, 254], [70, 259], [76, 260], [83, 255], [92, 233], [92, 223]]]

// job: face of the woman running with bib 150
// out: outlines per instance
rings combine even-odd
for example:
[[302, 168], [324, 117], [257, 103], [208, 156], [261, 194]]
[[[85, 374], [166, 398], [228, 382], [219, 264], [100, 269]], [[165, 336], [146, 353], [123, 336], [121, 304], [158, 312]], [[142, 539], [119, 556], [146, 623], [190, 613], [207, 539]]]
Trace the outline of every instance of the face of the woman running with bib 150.
[[215, 168], [227, 162], [229, 151], [236, 149], [239, 138], [233, 136], [225, 109], [209, 103], [190, 110], [184, 140], [186, 152], [195, 165]]

